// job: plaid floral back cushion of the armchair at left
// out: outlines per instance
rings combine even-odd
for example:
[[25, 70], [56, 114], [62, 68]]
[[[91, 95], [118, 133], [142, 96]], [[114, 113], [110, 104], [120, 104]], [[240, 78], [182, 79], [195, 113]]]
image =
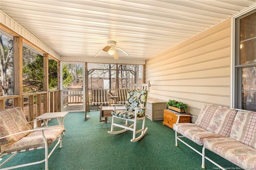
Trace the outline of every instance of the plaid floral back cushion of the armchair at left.
[[[32, 127], [26, 120], [21, 107], [12, 107], [0, 111], [0, 137], [31, 129]], [[27, 134], [16, 134], [0, 139], [0, 153]]]

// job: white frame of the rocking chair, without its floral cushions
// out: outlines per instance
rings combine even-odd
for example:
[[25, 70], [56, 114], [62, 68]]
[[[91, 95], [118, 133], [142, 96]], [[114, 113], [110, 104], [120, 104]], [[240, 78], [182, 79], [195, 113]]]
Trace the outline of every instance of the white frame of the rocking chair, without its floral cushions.
[[[145, 84], [145, 83], [132, 84], [132, 89], [145, 89], [145, 90], [148, 90], [148, 83], [147, 84]], [[120, 106], [120, 105], [116, 104], [114, 106]], [[145, 104], [145, 107], [137, 107], [137, 108], [135, 108], [135, 113], [134, 113], [134, 118], [133, 119], [126, 119], [124, 117], [117, 117], [115, 115], [112, 115], [111, 130], [108, 131], [108, 133], [110, 133], [110, 134], [120, 134], [120, 133], [126, 132], [127, 130], [131, 130], [131, 131], [133, 131], [133, 134], [132, 134], [132, 139], [130, 141], [131, 142], [136, 142], [136, 141], [140, 140], [144, 136], [144, 134], [147, 132], [147, 130], [148, 130], [148, 127], [145, 128], [146, 115], [143, 116], [143, 117], [137, 117], [137, 113], [138, 113], [138, 111], [140, 109], [146, 109], [146, 104]], [[114, 107], [114, 111], [115, 110], [116, 109]], [[125, 120], [125, 124], [124, 125], [120, 125], [120, 124], [114, 123], [114, 118]], [[140, 128], [139, 130], [136, 130], [137, 121], [139, 121], [139, 120], [142, 120], [142, 128]], [[128, 121], [132, 121], [133, 124], [129, 126], [128, 125]], [[123, 129], [122, 130], [118, 130], [118, 131], [114, 131], [114, 127], [120, 127], [120, 128], [123, 128]], [[140, 134], [140, 136], [138, 136], [136, 138], [136, 134], [139, 133], [139, 132], [141, 132], [141, 134]]]

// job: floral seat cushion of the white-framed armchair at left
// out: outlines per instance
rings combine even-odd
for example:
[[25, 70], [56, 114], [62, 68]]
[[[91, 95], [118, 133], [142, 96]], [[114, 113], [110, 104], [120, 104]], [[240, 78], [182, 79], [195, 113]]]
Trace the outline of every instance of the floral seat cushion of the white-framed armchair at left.
[[[47, 139], [48, 146], [50, 146], [58, 136], [63, 132], [64, 126], [63, 125], [56, 125], [51, 127], [46, 127], [44, 129], [44, 135]], [[41, 130], [36, 130], [29, 132], [26, 136], [18, 140], [17, 142], [8, 146], [3, 153], [10, 153], [20, 150], [25, 150], [29, 148], [37, 148], [37, 147], [44, 147], [44, 140], [42, 138]]]

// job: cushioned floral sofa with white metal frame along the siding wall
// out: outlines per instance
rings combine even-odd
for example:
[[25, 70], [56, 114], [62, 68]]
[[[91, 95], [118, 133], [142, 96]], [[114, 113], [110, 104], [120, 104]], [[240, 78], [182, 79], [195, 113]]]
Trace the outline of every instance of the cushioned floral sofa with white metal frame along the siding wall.
[[[184, 116], [184, 115], [182, 115]], [[176, 146], [178, 140], [202, 155], [202, 168], [207, 159], [219, 168], [222, 166], [205, 156], [205, 148], [222, 156], [241, 168], [256, 170], [256, 113], [236, 109], [204, 105], [196, 122], [177, 123], [175, 130]], [[178, 136], [178, 133], [181, 135]], [[202, 152], [184, 142], [186, 137], [203, 146]]]

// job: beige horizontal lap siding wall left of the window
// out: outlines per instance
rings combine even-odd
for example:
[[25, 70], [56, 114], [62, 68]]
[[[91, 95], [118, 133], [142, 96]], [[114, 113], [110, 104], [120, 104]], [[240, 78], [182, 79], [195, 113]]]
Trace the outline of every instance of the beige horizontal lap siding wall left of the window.
[[205, 104], [229, 107], [230, 35], [229, 19], [148, 59], [149, 97], [187, 103], [192, 115]]

